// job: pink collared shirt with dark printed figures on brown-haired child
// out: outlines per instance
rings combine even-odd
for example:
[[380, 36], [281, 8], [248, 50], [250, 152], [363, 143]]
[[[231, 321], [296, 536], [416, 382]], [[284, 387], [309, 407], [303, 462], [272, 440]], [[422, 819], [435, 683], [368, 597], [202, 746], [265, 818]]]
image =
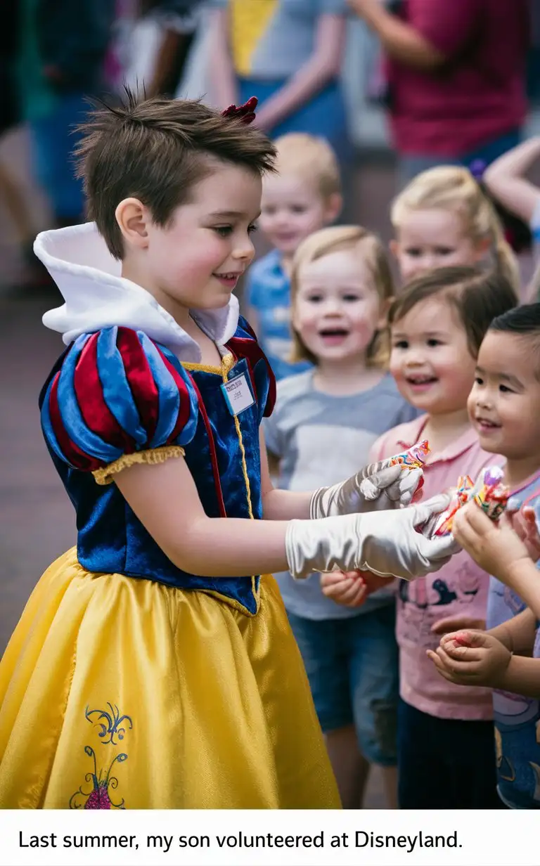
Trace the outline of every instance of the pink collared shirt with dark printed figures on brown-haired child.
[[[389, 430], [374, 443], [370, 459], [381, 460], [410, 448], [422, 437], [423, 415]], [[443, 452], [430, 455], [424, 468], [423, 499], [455, 487], [459, 475], [476, 479], [480, 469], [500, 465], [503, 458], [488, 454], [474, 430]], [[400, 580], [396, 635], [400, 646], [400, 695], [412, 707], [439, 719], [479, 720], [493, 717], [491, 689], [464, 688], [440, 676], [426, 650], [439, 646], [432, 626], [446, 617], [485, 620], [490, 578], [465, 552], [426, 578]]]

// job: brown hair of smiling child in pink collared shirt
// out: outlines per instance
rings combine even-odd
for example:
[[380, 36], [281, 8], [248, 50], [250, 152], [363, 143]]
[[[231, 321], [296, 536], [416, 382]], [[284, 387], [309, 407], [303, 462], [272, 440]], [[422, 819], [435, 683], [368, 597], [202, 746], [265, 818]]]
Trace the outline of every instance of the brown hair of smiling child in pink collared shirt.
[[441, 295], [458, 313], [473, 358], [492, 320], [516, 307], [517, 294], [500, 271], [485, 272], [478, 268], [438, 268], [409, 282], [388, 312], [392, 327], [413, 307]]

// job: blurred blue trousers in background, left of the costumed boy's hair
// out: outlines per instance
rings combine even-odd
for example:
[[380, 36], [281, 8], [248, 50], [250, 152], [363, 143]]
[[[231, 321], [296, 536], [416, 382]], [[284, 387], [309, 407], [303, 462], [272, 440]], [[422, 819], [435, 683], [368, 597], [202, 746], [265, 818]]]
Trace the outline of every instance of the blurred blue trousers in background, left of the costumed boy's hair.
[[62, 94], [51, 113], [30, 123], [36, 179], [59, 223], [84, 219], [84, 193], [82, 181], [75, 177], [73, 152], [80, 139], [76, 126], [87, 113], [82, 94]]

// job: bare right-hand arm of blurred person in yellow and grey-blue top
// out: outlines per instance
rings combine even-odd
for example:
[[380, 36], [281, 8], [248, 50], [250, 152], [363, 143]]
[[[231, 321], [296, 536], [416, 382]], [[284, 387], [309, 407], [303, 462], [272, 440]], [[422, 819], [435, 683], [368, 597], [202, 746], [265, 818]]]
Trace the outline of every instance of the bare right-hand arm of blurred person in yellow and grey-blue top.
[[339, 15], [320, 16], [313, 54], [287, 84], [264, 102], [257, 113], [257, 124], [272, 129], [335, 79], [342, 68], [344, 42], [345, 19]]

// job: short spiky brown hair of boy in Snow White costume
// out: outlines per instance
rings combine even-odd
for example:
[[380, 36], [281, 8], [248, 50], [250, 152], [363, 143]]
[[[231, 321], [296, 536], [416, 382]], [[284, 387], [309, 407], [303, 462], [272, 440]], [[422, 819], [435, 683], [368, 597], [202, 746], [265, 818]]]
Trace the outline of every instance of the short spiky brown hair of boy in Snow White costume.
[[211, 158], [263, 174], [273, 171], [276, 155], [256, 126], [225, 118], [200, 100], [138, 101], [128, 90], [121, 105], [99, 102], [80, 129], [76, 153], [88, 216], [115, 259], [124, 252], [114, 216], [122, 199], [139, 198], [154, 222], [166, 226], [179, 204], [190, 201], [193, 186], [211, 174]]

